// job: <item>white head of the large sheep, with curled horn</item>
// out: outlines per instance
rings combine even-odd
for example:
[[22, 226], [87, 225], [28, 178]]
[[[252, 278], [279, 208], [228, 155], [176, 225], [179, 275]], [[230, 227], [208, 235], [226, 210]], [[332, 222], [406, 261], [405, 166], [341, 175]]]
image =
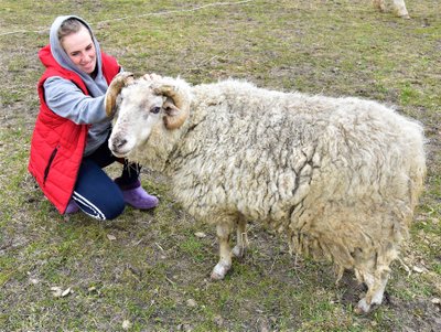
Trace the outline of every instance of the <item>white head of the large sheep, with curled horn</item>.
[[109, 148], [117, 157], [129, 157], [153, 129], [179, 129], [189, 117], [190, 86], [181, 79], [141, 77], [117, 96], [117, 114]]

